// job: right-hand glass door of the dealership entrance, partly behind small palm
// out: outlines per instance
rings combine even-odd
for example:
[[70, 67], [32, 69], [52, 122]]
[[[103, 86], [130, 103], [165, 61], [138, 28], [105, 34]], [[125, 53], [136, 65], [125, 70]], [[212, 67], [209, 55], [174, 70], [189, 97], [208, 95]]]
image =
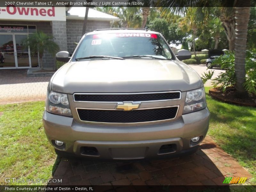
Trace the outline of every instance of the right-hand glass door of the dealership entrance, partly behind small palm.
[[15, 36], [15, 51], [17, 55], [17, 68], [28, 68], [29, 65], [29, 52], [24, 47], [24, 41], [27, 39], [27, 35], [14, 35]]

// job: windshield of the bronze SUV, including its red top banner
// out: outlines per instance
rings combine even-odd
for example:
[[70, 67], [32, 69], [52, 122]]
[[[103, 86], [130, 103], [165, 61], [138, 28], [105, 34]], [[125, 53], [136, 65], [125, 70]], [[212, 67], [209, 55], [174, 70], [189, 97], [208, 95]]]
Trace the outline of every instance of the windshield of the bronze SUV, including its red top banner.
[[148, 59], [174, 59], [171, 49], [164, 39], [160, 35], [150, 33], [87, 35], [79, 45], [73, 61], [87, 57], [91, 59], [91, 56], [111, 56], [125, 59], [151, 56]]

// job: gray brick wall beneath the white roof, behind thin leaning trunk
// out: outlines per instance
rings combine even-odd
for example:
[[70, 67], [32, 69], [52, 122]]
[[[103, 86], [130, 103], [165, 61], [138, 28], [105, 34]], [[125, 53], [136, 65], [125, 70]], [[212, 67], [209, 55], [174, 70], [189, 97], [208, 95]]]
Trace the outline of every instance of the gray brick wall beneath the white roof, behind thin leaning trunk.
[[[66, 24], [67, 24], [68, 52], [73, 53], [76, 48], [75, 42], [78, 43], [82, 36], [84, 20], [68, 20], [67, 19]], [[104, 29], [104, 28], [110, 28], [109, 21], [88, 20], [85, 32], [88, 33], [96, 29]]]

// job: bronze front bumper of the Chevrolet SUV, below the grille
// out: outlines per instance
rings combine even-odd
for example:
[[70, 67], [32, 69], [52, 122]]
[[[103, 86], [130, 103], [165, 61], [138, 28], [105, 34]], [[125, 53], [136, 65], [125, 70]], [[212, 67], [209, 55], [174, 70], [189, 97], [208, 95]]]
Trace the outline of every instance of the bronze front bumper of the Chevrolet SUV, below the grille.
[[[44, 111], [48, 140], [57, 150], [100, 159], [138, 159], [173, 156], [192, 151], [204, 139], [209, 127], [208, 108], [182, 115], [177, 121], [141, 126], [79, 124], [71, 117]], [[197, 143], [191, 138], [200, 136]], [[58, 147], [54, 140], [63, 141]], [[164, 149], [169, 146], [169, 149]], [[87, 148], [97, 153], [87, 153]]]

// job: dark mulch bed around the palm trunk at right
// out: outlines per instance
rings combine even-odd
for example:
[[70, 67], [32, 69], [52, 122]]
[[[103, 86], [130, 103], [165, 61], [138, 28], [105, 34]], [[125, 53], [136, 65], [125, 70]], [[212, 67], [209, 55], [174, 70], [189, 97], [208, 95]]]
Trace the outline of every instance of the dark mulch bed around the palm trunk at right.
[[237, 98], [235, 94], [235, 88], [229, 87], [226, 89], [226, 92], [222, 92], [222, 90], [218, 87], [211, 88], [209, 90], [209, 95], [216, 100], [220, 100], [225, 103], [231, 103], [235, 105], [241, 106], [250, 106], [256, 107], [256, 95], [249, 95], [246, 98]]

